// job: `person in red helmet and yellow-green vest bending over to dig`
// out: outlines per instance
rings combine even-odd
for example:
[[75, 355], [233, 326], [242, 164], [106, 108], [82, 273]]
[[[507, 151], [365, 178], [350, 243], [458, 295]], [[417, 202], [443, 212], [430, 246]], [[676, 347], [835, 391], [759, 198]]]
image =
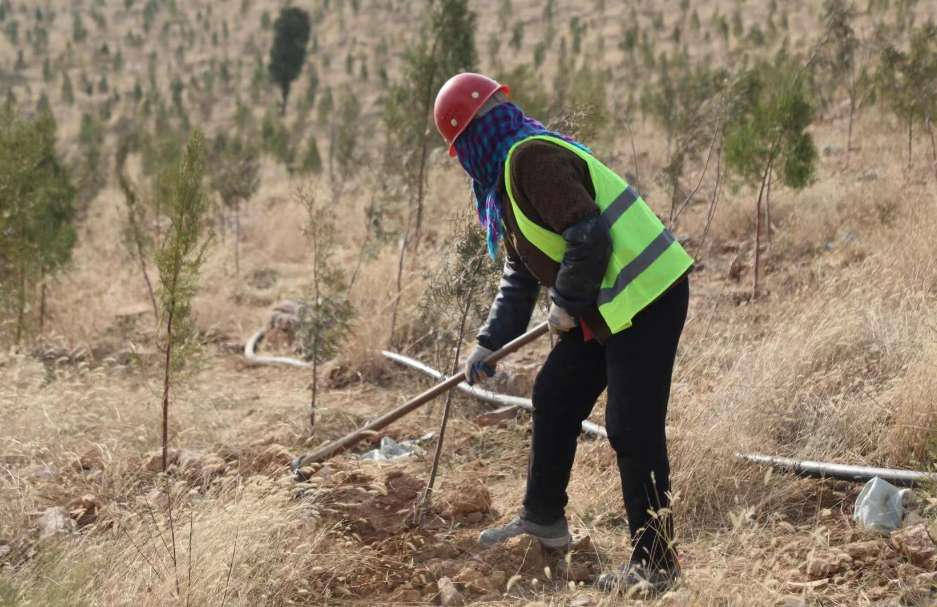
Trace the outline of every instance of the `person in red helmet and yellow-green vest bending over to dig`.
[[483, 361], [527, 328], [540, 286], [558, 336], [533, 388], [533, 438], [520, 514], [481, 533], [494, 545], [527, 534], [548, 548], [570, 540], [566, 487], [580, 425], [608, 390], [632, 555], [603, 573], [607, 591], [651, 593], [679, 575], [670, 514], [665, 419], [693, 259], [638, 193], [570, 137], [508, 101], [510, 89], [463, 73], [439, 90], [436, 127], [472, 178], [500, 289], [465, 362], [469, 383], [491, 377]]

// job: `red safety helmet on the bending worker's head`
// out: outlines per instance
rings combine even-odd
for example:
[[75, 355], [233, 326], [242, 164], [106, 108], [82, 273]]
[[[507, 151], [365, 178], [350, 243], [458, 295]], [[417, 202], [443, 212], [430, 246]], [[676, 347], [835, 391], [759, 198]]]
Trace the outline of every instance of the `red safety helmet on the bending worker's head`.
[[455, 140], [485, 102], [499, 91], [511, 93], [507, 85], [471, 72], [453, 76], [442, 85], [436, 95], [433, 118], [439, 134], [449, 144], [450, 156], [455, 156]]

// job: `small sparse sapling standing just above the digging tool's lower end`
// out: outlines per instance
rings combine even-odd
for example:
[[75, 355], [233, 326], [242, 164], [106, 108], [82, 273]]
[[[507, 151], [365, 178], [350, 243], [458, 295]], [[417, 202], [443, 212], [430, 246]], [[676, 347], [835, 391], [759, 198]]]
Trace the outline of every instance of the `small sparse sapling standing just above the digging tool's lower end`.
[[348, 335], [354, 308], [346, 296], [345, 277], [335, 263], [339, 230], [335, 206], [322, 203], [313, 190], [300, 188], [297, 200], [306, 210], [303, 232], [312, 253], [312, 282], [306, 303], [300, 308], [303, 357], [312, 363], [309, 398], [309, 432], [315, 430], [319, 397], [319, 366], [334, 357]]

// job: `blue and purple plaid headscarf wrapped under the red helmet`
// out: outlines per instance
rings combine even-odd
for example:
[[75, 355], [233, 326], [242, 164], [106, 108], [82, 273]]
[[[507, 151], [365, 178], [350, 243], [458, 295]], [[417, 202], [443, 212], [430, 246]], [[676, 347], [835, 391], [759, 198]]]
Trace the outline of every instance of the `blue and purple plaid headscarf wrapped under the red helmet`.
[[488, 254], [492, 259], [497, 255], [498, 243], [504, 233], [501, 197], [498, 195], [498, 181], [504, 171], [504, 160], [511, 146], [533, 135], [551, 135], [586, 152], [591, 151], [566, 135], [548, 131], [513, 103], [502, 103], [484, 116], [475, 118], [455, 141], [459, 162], [472, 178], [475, 209], [478, 211], [478, 221], [487, 233]]

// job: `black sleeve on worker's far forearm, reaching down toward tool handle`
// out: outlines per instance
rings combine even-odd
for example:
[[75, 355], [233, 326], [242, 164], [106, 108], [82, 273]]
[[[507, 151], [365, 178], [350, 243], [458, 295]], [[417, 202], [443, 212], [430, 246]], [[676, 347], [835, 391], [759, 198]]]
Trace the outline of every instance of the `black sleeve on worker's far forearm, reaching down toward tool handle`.
[[488, 321], [478, 332], [479, 345], [497, 350], [518, 337], [530, 324], [540, 282], [519, 258], [509, 254], [504, 262], [498, 295], [491, 304]]

